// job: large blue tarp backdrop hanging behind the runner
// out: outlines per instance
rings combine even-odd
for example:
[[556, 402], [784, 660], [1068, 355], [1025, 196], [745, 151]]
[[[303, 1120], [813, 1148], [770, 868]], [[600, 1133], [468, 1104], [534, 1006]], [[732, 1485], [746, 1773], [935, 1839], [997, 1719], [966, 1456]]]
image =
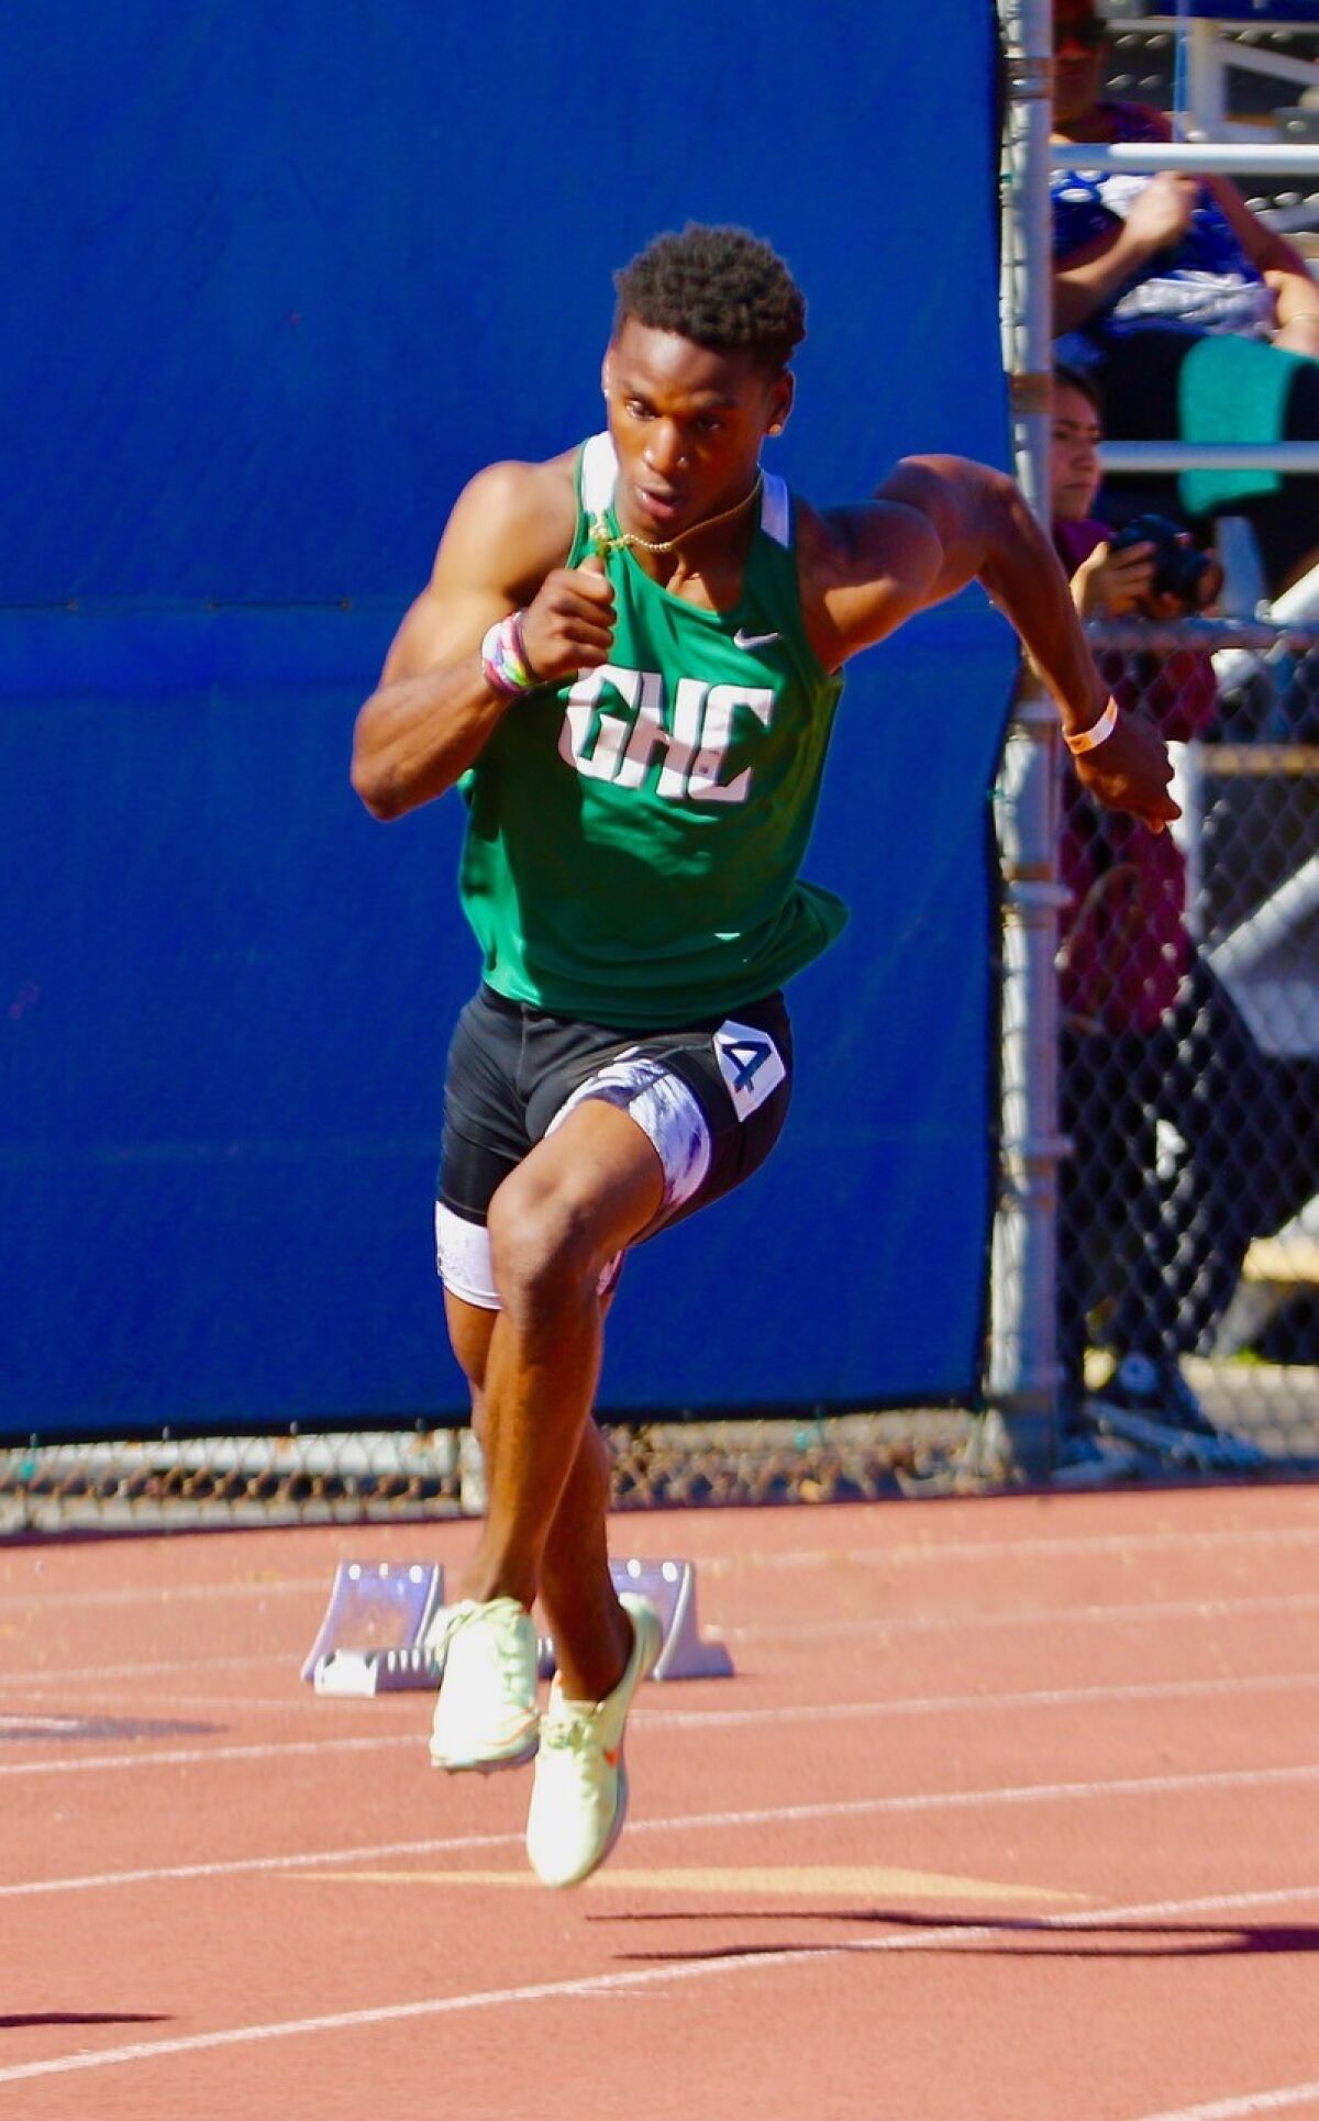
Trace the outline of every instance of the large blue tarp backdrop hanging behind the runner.
[[[462, 481], [600, 424], [611, 269], [738, 221], [810, 301], [774, 458], [1005, 460], [992, 11], [19, 11], [0, 134], [0, 1430], [456, 1415], [430, 1258], [456, 802], [348, 789]], [[990, 1209], [969, 592], [848, 679], [770, 1167], [630, 1262], [611, 1408], [973, 1387]]]

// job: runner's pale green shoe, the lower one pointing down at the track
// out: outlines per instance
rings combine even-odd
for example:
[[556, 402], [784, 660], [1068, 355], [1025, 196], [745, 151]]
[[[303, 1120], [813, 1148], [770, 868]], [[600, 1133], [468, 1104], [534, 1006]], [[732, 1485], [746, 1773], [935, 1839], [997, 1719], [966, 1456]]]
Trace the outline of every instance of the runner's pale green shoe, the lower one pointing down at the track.
[[566, 1701], [558, 1680], [541, 1722], [526, 1854], [543, 1886], [581, 1886], [628, 1818], [623, 1724], [632, 1695], [659, 1657], [664, 1627], [645, 1597], [619, 1599], [632, 1620], [628, 1669], [604, 1701]]

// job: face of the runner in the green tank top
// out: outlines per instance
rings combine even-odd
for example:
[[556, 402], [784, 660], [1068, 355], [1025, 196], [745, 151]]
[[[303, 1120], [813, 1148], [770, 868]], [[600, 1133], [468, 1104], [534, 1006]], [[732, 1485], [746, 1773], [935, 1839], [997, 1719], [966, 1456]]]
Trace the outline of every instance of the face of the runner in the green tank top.
[[626, 318], [604, 356], [626, 530], [672, 539], [742, 501], [793, 386], [751, 354], [696, 346]]

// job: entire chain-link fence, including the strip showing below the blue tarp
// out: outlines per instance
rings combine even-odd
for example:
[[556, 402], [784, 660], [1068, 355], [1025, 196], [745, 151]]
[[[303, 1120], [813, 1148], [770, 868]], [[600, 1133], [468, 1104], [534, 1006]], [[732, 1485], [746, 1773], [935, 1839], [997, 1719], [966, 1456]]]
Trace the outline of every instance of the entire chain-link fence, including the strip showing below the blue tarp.
[[[1137, 1476], [1313, 1472], [1319, 628], [1109, 621], [1090, 634], [1120, 700], [1173, 742], [1183, 819], [1154, 838], [1065, 781], [1062, 1423], [1135, 1447]], [[634, 1421], [609, 1440], [619, 1508], [1012, 1478], [967, 1408]], [[0, 1533], [401, 1521], [481, 1502], [473, 1438], [424, 1421], [0, 1451]]]

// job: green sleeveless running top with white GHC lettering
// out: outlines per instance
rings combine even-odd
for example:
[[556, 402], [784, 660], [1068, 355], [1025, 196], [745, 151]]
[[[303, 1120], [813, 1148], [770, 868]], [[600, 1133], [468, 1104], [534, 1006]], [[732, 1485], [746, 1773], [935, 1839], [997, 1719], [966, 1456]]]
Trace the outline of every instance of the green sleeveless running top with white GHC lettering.
[[[617, 534], [617, 460], [577, 462], [568, 566]], [[609, 664], [517, 700], [462, 776], [458, 889], [483, 978], [553, 1016], [672, 1029], [782, 986], [846, 906], [799, 880], [842, 679], [806, 641], [791, 496], [766, 475], [736, 611], [611, 551]]]

